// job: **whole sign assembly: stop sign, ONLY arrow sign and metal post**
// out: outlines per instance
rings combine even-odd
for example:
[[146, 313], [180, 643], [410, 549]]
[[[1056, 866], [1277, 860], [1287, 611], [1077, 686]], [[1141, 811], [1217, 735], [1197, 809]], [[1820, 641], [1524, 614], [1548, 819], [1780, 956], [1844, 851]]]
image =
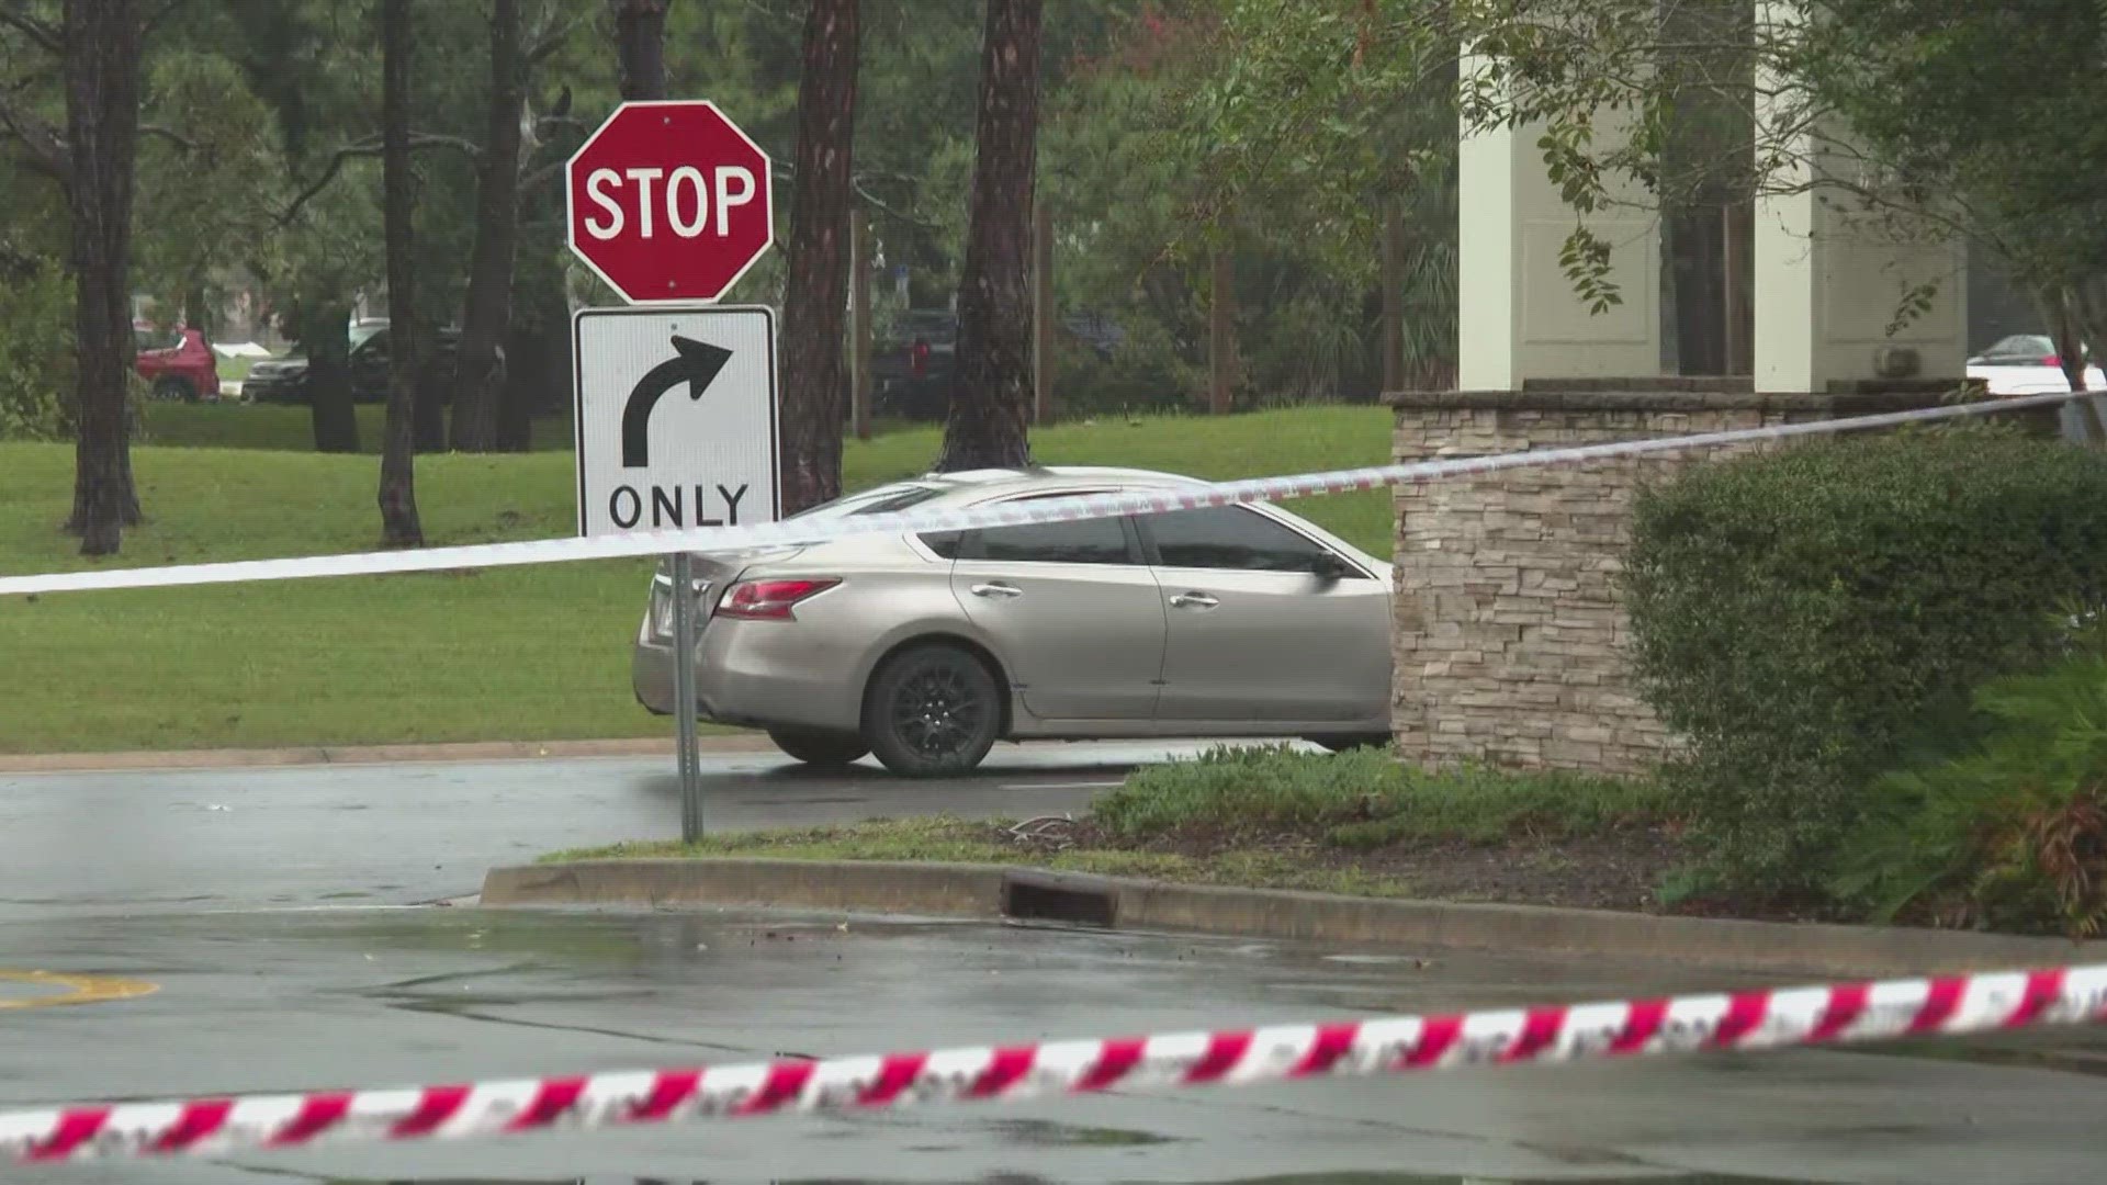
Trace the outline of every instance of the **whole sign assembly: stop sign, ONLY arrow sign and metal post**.
[[[565, 164], [571, 253], [630, 306], [714, 306], [775, 242], [773, 194], [769, 156], [716, 103], [622, 103]], [[582, 536], [775, 521], [769, 310], [586, 310], [573, 333]], [[670, 567], [681, 841], [695, 843], [695, 561]]]

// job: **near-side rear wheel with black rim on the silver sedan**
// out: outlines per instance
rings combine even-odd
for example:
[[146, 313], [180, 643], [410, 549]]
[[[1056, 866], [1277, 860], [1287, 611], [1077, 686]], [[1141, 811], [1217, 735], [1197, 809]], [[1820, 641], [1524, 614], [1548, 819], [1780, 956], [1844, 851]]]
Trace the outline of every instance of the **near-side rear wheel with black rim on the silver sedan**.
[[864, 689], [864, 740], [902, 778], [971, 774], [1003, 730], [1003, 689], [976, 654], [917, 645]]

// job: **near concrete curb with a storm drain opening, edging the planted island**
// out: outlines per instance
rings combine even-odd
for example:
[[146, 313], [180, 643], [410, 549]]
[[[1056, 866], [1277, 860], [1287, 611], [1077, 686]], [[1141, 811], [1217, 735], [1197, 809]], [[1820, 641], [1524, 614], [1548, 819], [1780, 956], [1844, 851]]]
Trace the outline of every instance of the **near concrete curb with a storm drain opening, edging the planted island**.
[[2107, 943], [1951, 930], [1660, 917], [1595, 909], [1178, 886], [1005, 865], [577, 860], [491, 869], [485, 907], [763, 907], [1066, 921], [1448, 951], [1671, 959], [1742, 972], [1896, 976], [2107, 957]]

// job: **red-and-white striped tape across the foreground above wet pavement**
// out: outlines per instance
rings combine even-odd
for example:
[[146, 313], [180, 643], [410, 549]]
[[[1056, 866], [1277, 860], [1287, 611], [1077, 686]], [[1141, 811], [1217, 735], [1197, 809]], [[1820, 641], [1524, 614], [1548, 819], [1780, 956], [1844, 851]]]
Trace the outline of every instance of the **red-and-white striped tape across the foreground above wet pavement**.
[[0, 1113], [0, 1160], [228, 1153], [775, 1111], [1247, 1086], [1475, 1065], [1768, 1050], [2107, 1021], [2107, 966], [1279, 1025], [725, 1069], [592, 1073]]

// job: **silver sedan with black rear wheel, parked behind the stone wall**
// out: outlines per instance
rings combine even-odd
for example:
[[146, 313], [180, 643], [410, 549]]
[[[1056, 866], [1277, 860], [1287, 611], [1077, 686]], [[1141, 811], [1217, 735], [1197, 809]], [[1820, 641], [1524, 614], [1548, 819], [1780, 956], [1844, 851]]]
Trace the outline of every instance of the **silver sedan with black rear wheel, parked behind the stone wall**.
[[[936, 474], [807, 510], [847, 519], [1193, 479], [1112, 468]], [[1003, 738], [1391, 732], [1391, 567], [1279, 506], [851, 536], [695, 557], [700, 715], [799, 761], [874, 753], [973, 770]], [[672, 580], [636, 635], [634, 689], [672, 711]]]

